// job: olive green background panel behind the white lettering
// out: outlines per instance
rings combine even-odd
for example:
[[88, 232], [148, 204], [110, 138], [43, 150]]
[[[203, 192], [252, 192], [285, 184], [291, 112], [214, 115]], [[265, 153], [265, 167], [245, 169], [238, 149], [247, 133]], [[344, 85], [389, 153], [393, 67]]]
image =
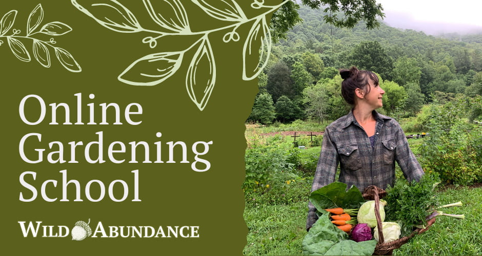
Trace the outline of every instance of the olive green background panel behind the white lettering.
[[[121, 3], [129, 10], [139, 24], [146, 30], [159, 29], [159, 25], [149, 16], [143, 1], [76, 1], [83, 5]], [[163, 1], [151, 1], [160, 3]], [[233, 22], [218, 20], [209, 16], [192, 1], [169, 1], [184, 5], [191, 31], [215, 30], [233, 24]], [[212, 2], [212, 1], [207, 1]], [[220, 1], [217, 1], [220, 2]], [[229, 2], [229, 1], [228, 1]], [[237, 1], [239, 8], [245, 11], [248, 18], [260, 15], [262, 11], [251, 8], [251, 1]], [[266, 1], [269, 2], [269, 1]], [[277, 2], [277, 1], [271, 1]], [[214, 2], [213, 2], [214, 3]], [[233, 2], [234, 3], [234, 2]], [[29, 15], [41, 4], [43, 19], [36, 30], [32, 30], [27, 37], [27, 24]], [[279, 3], [273, 3], [273, 5]], [[153, 5], [154, 6], [154, 5]], [[103, 7], [97, 5], [96, 7]], [[106, 7], [104, 5], [104, 7]], [[154, 6], [154, 8], [159, 8]], [[108, 9], [108, 8], [107, 8]], [[257, 80], [243, 80], [243, 47], [253, 21], [247, 22], [236, 28], [240, 40], [224, 42], [226, 33], [233, 27], [209, 33], [209, 41], [199, 41], [192, 49], [198, 35], [167, 35], [156, 40], [157, 44], [151, 48], [144, 38], [156, 35], [149, 31], [136, 33], [121, 33], [110, 30], [92, 17], [79, 11], [71, 1], [2, 1], [0, 4], [0, 17], [11, 10], [16, 10], [13, 25], [4, 33], [0, 40], [0, 84], [2, 87], [2, 253], [15, 254], [41, 254], [46, 255], [240, 255], [246, 244], [247, 227], [243, 220], [244, 196], [241, 185], [244, 181], [245, 164], [244, 153], [246, 140], [244, 137], [244, 122], [247, 119], [257, 93]], [[158, 11], [162, 16], [169, 8]], [[171, 8], [172, 10], [172, 8]], [[179, 10], [179, 9], [178, 9]], [[38, 11], [38, 10], [37, 10]], [[112, 9], [110, 10], [112, 11]], [[114, 15], [115, 10], [109, 15]], [[113, 13], [113, 14], [112, 14]], [[179, 13], [179, 12], [178, 12]], [[30, 27], [35, 26], [39, 13], [30, 17]], [[129, 17], [129, 16], [127, 16]], [[269, 20], [270, 14], [267, 14]], [[10, 23], [8, 21], [10, 18]], [[10, 17], [5, 17], [0, 33], [12, 24]], [[72, 31], [62, 35], [48, 35], [34, 33], [52, 22], [61, 22], [68, 25]], [[57, 23], [58, 25], [58, 23]], [[15, 31], [14, 31], [15, 29]], [[47, 27], [49, 31], [59, 27]], [[65, 27], [64, 27], [65, 29]], [[162, 28], [160, 28], [162, 30]], [[160, 31], [159, 30], [159, 31]], [[45, 30], [46, 31], [46, 30]], [[168, 31], [166, 29], [164, 32]], [[16, 34], [15, 34], [16, 32]], [[14, 37], [15, 36], [15, 37]], [[9, 39], [10, 38], [10, 39]], [[13, 38], [13, 39], [12, 39]], [[16, 40], [14, 40], [16, 38]], [[36, 39], [32, 39], [36, 38]], [[55, 42], [53, 44], [53, 41]], [[47, 60], [37, 57], [42, 55], [39, 42], [36, 49], [35, 40], [48, 42], [44, 44], [49, 50], [50, 67], [44, 67], [40, 62]], [[145, 39], [145, 41], [148, 39]], [[19, 42], [20, 43], [19, 43]], [[153, 42], [151, 42], [153, 43]], [[204, 109], [190, 98], [186, 88], [186, 76], [189, 75], [189, 66], [195, 59], [196, 50], [204, 44], [204, 58], [199, 58], [196, 76], [199, 80], [210, 79], [212, 67], [207, 65], [206, 56], [214, 56], [216, 77], [214, 88], [209, 101]], [[208, 47], [208, 44], [210, 47]], [[22, 48], [22, 45], [25, 47]], [[81, 72], [71, 72], [57, 59], [54, 48], [68, 51], [82, 68]], [[257, 45], [259, 47], [259, 44]], [[20, 58], [30, 56], [30, 61]], [[37, 52], [37, 56], [34, 54]], [[60, 51], [60, 50], [58, 50]], [[165, 81], [154, 86], [134, 86], [118, 80], [118, 76], [126, 70], [135, 60], [149, 54], [162, 52], [184, 51], [182, 59], [175, 59], [179, 63], [177, 71], [169, 75]], [[257, 50], [256, 50], [257, 52]], [[18, 55], [18, 56], [16, 56]], [[69, 62], [66, 55], [64, 61]], [[172, 56], [171, 56], [172, 57]], [[178, 57], [178, 56], [177, 56]], [[174, 57], [173, 57], [174, 58]], [[24, 59], [26, 60], [26, 59]], [[248, 66], [255, 66], [256, 59], [249, 59]], [[72, 63], [72, 62], [70, 62]], [[150, 65], [146, 62], [147, 66]], [[48, 66], [48, 65], [46, 65]], [[146, 67], [147, 67], [146, 66]], [[171, 66], [172, 68], [173, 66]], [[75, 66], [71, 67], [75, 69]], [[149, 66], [148, 68], [151, 68]], [[155, 69], [153, 69], [155, 71]], [[151, 70], [152, 71], [152, 70]], [[166, 72], [166, 71], [158, 71]], [[142, 72], [141, 72], [142, 73]], [[82, 121], [84, 125], [64, 125], [63, 111], [59, 109], [57, 119], [60, 124], [49, 124], [51, 103], [66, 103], [70, 108], [72, 123], [77, 121], [77, 97], [82, 94]], [[203, 95], [203, 90], [197, 89], [197, 97]], [[93, 99], [89, 95], [93, 94]], [[21, 101], [27, 95], [37, 95], [45, 102], [45, 119], [36, 125], [24, 123], [19, 114]], [[117, 103], [121, 109], [122, 125], [114, 125], [115, 118], [109, 115], [107, 125], [87, 125], [89, 122], [89, 106], [93, 103], [94, 117], [97, 123], [101, 122], [101, 103]], [[142, 115], [131, 115], [133, 121], [142, 121], [139, 125], [131, 125], [124, 118], [124, 109], [130, 103], [142, 105]], [[34, 122], [41, 115], [40, 103], [35, 98], [29, 98], [25, 104], [26, 118]], [[103, 134], [104, 163], [88, 163], [84, 157], [84, 147], [87, 143], [98, 141], [96, 133]], [[24, 151], [26, 157], [34, 160], [38, 152], [43, 151], [43, 161], [27, 163], [19, 154], [19, 142], [29, 133], [41, 134], [42, 139], [29, 137], [26, 140]], [[160, 138], [157, 133], [162, 133]], [[59, 141], [65, 146], [65, 163], [49, 163], [49, 153], [58, 151], [57, 146], [49, 148], [49, 143]], [[82, 141], [84, 146], [76, 150], [78, 163], [69, 163], [71, 152], [69, 142]], [[107, 156], [107, 147], [114, 141], [123, 142], [126, 153], [116, 153], [117, 159], [126, 159], [123, 163], [113, 163]], [[129, 163], [129, 142], [146, 141], [150, 145], [150, 159], [156, 160], [155, 145], [160, 141], [162, 160], [164, 163], [142, 163], [144, 153], [137, 152], [139, 163]], [[168, 163], [167, 142], [182, 141], [187, 145], [187, 160], [189, 163], [180, 163], [182, 154], [174, 150], [175, 163]], [[191, 168], [195, 154], [191, 146], [197, 141], [209, 142], [209, 150], [205, 155], [200, 155], [209, 161], [211, 167], [206, 172], [195, 172]], [[202, 151], [202, 146], [198, 146]], [[98, 148], [92, 146], [90, 154], [96, 157]], [[52, 154], [58, 157], [57, 154]], [[203, 164], [197, 165], [203, 168]], [[77, 180], [81, 185], [81, 199], [76, 202], [74, 185], [67, 187], [68, 202], [62, 202], [62, 170], [66, 170], [67, 180]], [[138, 170], [138, 197], [134, 199], [134, 173]], [[34, 172], [25, 175], [25, 182], [35, 187], [38, 195], [31, 202], [22, 202], [24, 198], [33, 196], [32, 191], [23, 186], [20, 177], [25, 172]], [[41, 196], [41, 187], [47, 180], [56, 180], [47, 183], [46, 194], [54, 202], [47, 202]], [[105, 184], [106, 195], [99, 202], [91, 202], [85, 195], [85, 187], [89, 181], [98, 180]], [[129, 187], [126, 200], [114, 202], [109, 199], [108, 186], [114, 180], [123, 180]], [[91, 182], [92, 183], [92, 182]], [[122, 185], [117, 182], [114, 186], [114, 196], [122, 198]], [[91, 185], [92, 198], [100, 196], [99, 184]], [[97, 223], [102, 222], [109, 232], [109, 226], [159, 226], [167, 232], [168, 226], [199, 226], [198, 238], [97, 238], [87, 237], [82, 241], [73, 241], [71, 235], [66, 237], [43, 237], [40, 228], [37, 237], [29, 234], [23, 236], [21, 225], [18, 222], [41, 221], [42, 225], [53, 226], [54, 233], [57, 226], [67, 226], [71, 231], [77, 221], [88, 222], [95, 229]], [[46, 230], [50, 230], [49, 227]]]

